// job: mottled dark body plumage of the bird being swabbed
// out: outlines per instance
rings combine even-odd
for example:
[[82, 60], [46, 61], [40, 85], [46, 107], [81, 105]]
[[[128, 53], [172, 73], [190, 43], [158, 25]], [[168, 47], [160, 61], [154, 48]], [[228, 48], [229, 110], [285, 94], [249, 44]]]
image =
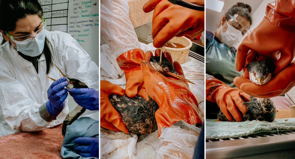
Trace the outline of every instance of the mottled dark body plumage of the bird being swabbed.
[[112, 94], [109, 99], [121, 115], [129, 133], [150, 134], [158, 129], [155, 112], [159, 106], [151, 97], [147, 101], [139, 95], [130, 98], [126, 94]]

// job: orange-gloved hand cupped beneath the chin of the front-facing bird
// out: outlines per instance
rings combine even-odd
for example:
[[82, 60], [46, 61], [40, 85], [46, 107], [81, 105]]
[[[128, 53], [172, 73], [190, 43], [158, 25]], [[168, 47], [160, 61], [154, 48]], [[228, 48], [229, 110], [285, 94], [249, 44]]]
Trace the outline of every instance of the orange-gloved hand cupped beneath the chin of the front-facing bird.
[[269, 98], [289, 92], [295, 86], [294, 79], [295, 60], [264, 85], [257, 85], [243, 77], [234, 78], [234, 84], [243, 92], [253, 97]]

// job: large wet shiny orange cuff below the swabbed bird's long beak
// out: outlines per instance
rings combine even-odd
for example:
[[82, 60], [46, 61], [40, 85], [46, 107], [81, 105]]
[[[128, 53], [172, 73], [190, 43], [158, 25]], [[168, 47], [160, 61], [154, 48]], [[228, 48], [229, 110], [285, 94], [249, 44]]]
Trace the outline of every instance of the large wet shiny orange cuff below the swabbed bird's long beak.
[[153, 87], [153, 99], [159, 105], [155, 113], [159, 136], [163, 127], [169, 127], [180, 120], [188, 124], [203, 123], [195, 110], [198, 109], [198, 102], [191, 91], [183, 87], [177, 89], [175, 83], [172, 85], [173, 83], [166, 81], [159, 82]]

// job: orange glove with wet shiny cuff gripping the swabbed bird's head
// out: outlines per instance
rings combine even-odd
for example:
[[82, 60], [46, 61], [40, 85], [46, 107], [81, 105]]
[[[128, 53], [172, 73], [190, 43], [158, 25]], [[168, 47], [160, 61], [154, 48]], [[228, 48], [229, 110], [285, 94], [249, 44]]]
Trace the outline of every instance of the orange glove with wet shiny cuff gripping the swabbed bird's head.
[[[198, 115], [198, 102], [191, 93], [187, 82], [173, 77], [166, 78], [160, 74], [148, 62], [151, 56], [151, 52], [145, 54], [141, 68], [146, 91], [159, 105], [159, 109], [155, 113], [159, 136], [163, 127], [171, 126], [180, 120], [189, 124], [202, 124], [203, 122]], [[178, 74], [184, 76], [179, 62], [175, 61], [173, 66]]]

